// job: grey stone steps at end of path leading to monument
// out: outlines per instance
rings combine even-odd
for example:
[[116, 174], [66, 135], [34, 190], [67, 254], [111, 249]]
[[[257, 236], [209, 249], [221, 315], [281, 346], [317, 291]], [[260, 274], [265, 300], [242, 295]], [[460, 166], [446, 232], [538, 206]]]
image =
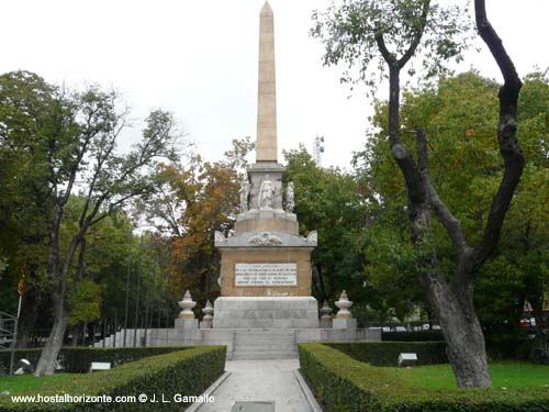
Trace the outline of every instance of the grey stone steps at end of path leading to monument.
[[295, 330], [235, 330], [233, 359], [296, 359]]

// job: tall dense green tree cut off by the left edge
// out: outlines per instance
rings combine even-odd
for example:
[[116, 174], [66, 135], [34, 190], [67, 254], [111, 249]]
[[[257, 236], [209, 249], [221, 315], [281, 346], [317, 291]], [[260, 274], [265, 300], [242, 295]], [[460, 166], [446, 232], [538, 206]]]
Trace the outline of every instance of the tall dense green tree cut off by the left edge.
[[18, 308], [18, 283], [25, 276], [18, 346], [24, 346], [40, 313], [45, 286], [46, 245], [53, 203], [48, 196], [44, 147], [51, 132], [53, 89], [29, 71], [0, 76], [0, 300]]

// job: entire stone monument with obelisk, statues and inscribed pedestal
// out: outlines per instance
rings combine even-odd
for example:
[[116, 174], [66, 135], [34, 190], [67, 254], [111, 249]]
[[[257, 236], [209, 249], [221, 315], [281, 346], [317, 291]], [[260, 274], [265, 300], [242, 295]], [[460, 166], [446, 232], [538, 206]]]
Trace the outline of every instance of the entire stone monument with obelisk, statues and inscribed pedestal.
[[240, 186], [235, 230], [228, 237], [215, 233], [221, 297], [214, 329], [318, 327], [317, 302], [311, 296], [316, 232], [300, 236], [293, 185], [284, 188], [284, 167], [277, 162], [273, 23], [266, 2], [259, 29], [256, 163]]

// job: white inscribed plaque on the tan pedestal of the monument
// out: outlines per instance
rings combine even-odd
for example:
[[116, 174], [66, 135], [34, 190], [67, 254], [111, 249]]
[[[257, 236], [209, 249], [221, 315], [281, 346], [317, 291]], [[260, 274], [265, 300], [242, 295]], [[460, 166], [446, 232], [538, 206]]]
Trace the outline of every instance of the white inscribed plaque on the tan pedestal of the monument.
[[235, 264], [235, 286], [296, 286], [298, 264]]

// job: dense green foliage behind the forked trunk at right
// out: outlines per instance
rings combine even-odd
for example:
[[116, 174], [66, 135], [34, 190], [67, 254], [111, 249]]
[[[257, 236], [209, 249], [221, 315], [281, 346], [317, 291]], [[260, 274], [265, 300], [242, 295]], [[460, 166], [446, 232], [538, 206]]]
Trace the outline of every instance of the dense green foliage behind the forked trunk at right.
[[[470, 71], [442, 76], [403, 91], [402, 140], [406, 145], [413, 144], [414, 125], [425, 125], [429, 136], [430, 178], [440, 198], [459, 216], [470, 240], [482, 233], [480, 229], [490, 209], [491, 193], [497, 188], [504, 170], [497, 146], [493, 144], [496, 131], [490, 121], [497, 115], [498, 87], [495, 81]], [[515, 191], [513, 208], [504, 222], [505, 236], [495, 255], [481, 268], [475, 283], [477, 314], [488, 348], [494, 355], [517, 354], [525, 339], [526, 331], [518, 327], [525, 301], [535, 302], [537, 324], [541, 320], [544, 290], [549, 280], [546, 269], [549, 232], [544, 223], [549, 218], [545, 207], [549, 188], [542, 183], [548, 179], [549, 166], [545, 149], [545, 136], [549, 133], [548, 99], [547, 75], [526, 76], [518, 101], [517, 135], [528, 160], [528, 172]], [[369, 238], [374, 247], [367, 249], [369, 260], [377, 258], [394, 266], [399, 261], [406, 264], [408, 256], [403, 245], [404, 232], [407, 235], [403, 224], [406, 193], [385, 138], [386, 113], [386, 102], [378, 102], [372, 118], [377, 130], [369, 135], [366, 149], [357, 160], [361, 165], [359, 172], [369, 179], [380, 199], [372, 204], [381, 213], [377, 214], [377, 224], [370, 230]], [[461, 136], [459, 142], [455, 136]], [[393, 218], [388, 220], [385, 216]], [[432, 230], [442, 270], [453, 274], [456, 261], [451, 242], [438, 221], [432, 222]], [[388, 233], [392, 233], [389, 240]], [[392, 250], [395, 253], [391, 254]], [[402, 252], [403, 257], [399, 256]], [[412, 266], [406, 264], [382, 272], [383, 265], [370, 265], [369, 272], [379, 279], [378, 283], [393, 283], [395, 277], [412, 271]]]

